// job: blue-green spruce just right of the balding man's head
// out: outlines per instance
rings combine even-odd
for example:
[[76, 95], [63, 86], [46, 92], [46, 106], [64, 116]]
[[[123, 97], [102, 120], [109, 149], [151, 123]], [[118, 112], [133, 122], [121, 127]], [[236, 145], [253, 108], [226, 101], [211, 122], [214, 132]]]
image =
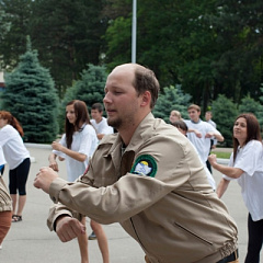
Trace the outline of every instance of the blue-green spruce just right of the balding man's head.
[[190, 104], [191, 95], [185, 94], [181, 85], [170, 85], [163, 88], [163, 92], [159, 94], [157, 104], [152, 111], [156, 117], [169, 122], [170, 112], [175, 110], [181, 112], [182, 117], [187, 116], [187, 105]]

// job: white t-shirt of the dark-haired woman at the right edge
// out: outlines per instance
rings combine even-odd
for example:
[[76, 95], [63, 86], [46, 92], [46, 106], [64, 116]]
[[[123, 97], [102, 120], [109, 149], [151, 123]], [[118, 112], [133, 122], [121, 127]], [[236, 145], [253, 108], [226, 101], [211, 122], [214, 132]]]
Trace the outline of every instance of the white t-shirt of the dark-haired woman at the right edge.
[[[235, 167], [244, 172], [238, 178], [241, 194], [253, 221], [263, 219], [263, 146], [259, 140], [251, 140], [238, 149], [233, 163], [233, 153], [229, 167]], [[236, 180], [224, 175], [226, 180]]]

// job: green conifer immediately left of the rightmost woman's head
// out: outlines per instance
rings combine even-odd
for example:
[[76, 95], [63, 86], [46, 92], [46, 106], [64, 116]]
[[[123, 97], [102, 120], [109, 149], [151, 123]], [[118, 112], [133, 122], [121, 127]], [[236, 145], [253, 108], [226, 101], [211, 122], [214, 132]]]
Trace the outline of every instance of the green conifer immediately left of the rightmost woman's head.
[[219, 94], [211, 103], [213, 119], [217, 124], [217, 129], [225, 138], [224, 145], [232, 147], [232, 127], [238, 115], [237, 104], [231, 99]]

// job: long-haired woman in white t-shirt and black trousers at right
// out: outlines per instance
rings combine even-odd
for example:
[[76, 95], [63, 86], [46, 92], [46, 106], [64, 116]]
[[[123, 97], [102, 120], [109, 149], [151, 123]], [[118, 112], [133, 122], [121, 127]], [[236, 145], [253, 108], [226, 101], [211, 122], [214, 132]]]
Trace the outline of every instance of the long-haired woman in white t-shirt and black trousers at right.
[[253, 114], [241, 114], [233, 125], [233, 153], [229, 167], [217, 163], [216, 156], [209, 162], [224, 173], [218, 187], [219, 197], [226, 192], [229, 182], [237, 179], [241, 186], [244, 204], [249, 210], [249, 244], [245, 263], [259, 263], [263, 242], [263, 148], [260, 125]]

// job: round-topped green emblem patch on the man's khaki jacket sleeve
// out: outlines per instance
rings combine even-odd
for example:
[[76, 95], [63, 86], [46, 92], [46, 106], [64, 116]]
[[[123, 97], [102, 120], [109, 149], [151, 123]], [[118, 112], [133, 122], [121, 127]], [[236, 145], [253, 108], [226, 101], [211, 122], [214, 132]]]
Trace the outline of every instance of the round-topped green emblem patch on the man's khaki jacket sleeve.
[[135, 160], [130, 173], [155, 178], [157, 173], [156, 160], [148, 155], [140, 156]]

